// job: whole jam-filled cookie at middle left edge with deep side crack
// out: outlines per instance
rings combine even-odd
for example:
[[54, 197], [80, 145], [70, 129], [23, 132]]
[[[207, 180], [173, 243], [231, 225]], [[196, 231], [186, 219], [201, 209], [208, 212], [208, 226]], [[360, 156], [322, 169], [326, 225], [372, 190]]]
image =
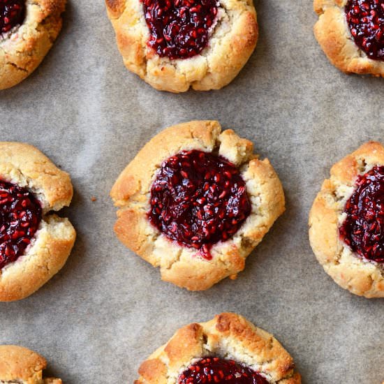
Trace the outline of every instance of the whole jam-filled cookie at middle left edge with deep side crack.
[[69, 175], [38, 149], [0, 142], [0, 301], [31, 295], [66, 263], [75, 229], [50, 212], [72, 195]]

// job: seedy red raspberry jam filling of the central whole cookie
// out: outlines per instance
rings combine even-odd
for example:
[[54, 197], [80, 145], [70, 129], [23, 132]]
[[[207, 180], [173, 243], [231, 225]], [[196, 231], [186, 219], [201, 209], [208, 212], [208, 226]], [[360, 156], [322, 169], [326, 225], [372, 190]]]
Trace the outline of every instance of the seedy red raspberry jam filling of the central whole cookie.
[[149, 221], [179, 245], [210, 260], [213, 244], [237, 232], [251, 213], [239, 170], [221, 156], [192, 150], [168, 158], [151, 189]]

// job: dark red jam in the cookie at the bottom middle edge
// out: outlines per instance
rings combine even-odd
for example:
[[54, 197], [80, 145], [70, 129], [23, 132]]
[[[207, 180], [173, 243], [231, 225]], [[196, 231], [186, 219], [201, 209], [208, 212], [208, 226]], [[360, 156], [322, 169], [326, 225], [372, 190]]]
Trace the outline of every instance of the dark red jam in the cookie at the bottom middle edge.
[[268, 384], [266, 378], [233, 360], [207, 357], [190, 365], [180, 376], [178, 384]]

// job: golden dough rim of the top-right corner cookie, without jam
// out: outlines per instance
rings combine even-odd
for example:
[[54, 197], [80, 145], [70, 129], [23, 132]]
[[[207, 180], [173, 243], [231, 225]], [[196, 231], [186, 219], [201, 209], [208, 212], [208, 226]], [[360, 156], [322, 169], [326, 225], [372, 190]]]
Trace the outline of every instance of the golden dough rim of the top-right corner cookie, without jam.
[[348, 0], [314, 0], [319, 15], [313, 29], [318, 43], [331, 63], [345, 73], [384, 76], [384, 62], [367, 57], [355, 44], [346, 22]]

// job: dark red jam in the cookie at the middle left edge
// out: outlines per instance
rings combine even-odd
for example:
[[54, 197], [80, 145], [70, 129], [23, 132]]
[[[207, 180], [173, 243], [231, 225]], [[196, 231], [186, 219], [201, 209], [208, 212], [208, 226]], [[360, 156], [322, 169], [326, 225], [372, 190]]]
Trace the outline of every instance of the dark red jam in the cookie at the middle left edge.
[[41, 206], [27, 189], [0, 181], [0, 269], [17, 260], [41, 221]]

